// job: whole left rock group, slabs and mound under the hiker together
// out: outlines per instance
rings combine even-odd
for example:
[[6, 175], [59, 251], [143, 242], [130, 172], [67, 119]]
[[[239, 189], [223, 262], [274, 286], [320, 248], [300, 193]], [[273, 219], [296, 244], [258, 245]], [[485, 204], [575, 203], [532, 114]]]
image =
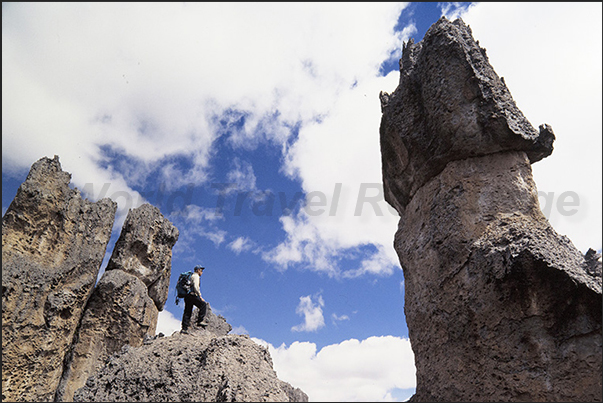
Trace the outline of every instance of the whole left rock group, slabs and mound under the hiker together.
[[[57, 156], [42, 158], [3, 217], [3, 401], [308, 400], [209, 306], [205, 329], [155, 336], [179, 235], [159, 209], [129, 211], [95, 287], [117, 205], [82, 200], [70, 178]], [[126, 372], [94, 390], [116, 363]]]

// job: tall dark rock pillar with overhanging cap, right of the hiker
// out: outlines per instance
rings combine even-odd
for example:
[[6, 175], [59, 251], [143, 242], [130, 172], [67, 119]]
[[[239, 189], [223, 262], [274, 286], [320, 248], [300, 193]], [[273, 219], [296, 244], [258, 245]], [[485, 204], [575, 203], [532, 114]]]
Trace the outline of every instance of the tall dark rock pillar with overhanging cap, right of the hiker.
[[601, 261], [540, 211], [552, 152], [461, 20], [440, 19], [382, 93], [386, 200], [417, 367], [413, 401], [600, 401]]

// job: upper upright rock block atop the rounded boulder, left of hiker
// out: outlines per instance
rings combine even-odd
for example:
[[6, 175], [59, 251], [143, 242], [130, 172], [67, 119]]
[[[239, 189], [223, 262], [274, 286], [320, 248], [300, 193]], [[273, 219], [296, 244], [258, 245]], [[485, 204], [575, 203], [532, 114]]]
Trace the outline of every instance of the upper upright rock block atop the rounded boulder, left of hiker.
[[128, 212], [107, 271], [122, 270], [140, 278], [158, 310], [163, 310], [172, 273], [172, 247], [178, 229], [148, 203]]

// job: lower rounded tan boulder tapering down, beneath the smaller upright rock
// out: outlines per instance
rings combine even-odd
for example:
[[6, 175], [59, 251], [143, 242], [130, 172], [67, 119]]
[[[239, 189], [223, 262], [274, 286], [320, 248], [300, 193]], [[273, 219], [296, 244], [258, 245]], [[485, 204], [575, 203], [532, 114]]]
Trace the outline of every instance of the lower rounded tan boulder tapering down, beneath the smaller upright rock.
[[141, 346], [145, 338], [154, 336], [158, 313], [138, 277], [121, 270], [105, 271], [86, 306], [56, 401], [72, 401], [75, 390], [124, 345]]

